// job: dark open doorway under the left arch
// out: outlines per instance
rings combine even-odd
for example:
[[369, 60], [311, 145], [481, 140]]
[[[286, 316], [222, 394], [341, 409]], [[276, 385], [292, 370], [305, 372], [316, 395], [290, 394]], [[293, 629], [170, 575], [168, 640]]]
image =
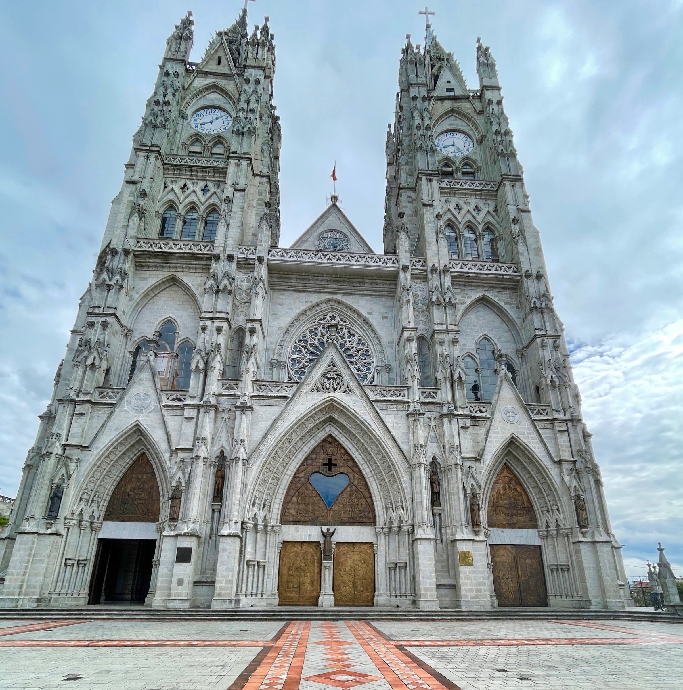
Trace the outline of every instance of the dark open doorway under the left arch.
[[88, 604], [143, 604], [156, 544], [152, 539], [100, 539]]

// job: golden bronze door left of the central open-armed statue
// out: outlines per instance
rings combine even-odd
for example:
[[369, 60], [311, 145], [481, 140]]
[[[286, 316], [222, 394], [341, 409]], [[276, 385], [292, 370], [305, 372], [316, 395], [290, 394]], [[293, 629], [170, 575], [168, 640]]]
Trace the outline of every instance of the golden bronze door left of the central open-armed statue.
[[319, 542], [282, 542], [278, 591], [280, 606], [318, 605]]

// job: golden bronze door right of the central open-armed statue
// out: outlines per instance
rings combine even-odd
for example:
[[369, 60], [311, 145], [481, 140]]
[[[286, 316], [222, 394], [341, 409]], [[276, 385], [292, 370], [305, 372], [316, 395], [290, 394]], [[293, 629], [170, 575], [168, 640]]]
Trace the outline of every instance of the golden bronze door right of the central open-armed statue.
[[375, 549], [369, 542], [337, 542], [333, 591], [335, 606], [373, 606]]

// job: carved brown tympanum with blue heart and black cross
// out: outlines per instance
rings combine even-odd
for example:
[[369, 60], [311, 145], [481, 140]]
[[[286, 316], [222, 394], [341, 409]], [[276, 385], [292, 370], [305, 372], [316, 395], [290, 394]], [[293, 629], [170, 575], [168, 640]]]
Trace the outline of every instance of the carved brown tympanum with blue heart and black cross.
[[332, 436], [301, 463], [287, 489], [281, 524], [374, 525], [368, 483], [344, 446]]

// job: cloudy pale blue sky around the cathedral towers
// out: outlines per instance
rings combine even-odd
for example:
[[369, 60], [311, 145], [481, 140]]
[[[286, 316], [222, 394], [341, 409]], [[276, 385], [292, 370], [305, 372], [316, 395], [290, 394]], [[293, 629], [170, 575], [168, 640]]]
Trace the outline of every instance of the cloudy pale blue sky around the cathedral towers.
[[[0, 493], [13, 496], [166, 37], [199, 61], [236, 0], [0, 0]], [[683, 0], [433, 0], [477, 87], [497, 60], [627, 573], [683, 575]], [[257, 0], [281, 117], [281, 245], [329, 197], [382, 251], [384, 139], [424, 2]]]

